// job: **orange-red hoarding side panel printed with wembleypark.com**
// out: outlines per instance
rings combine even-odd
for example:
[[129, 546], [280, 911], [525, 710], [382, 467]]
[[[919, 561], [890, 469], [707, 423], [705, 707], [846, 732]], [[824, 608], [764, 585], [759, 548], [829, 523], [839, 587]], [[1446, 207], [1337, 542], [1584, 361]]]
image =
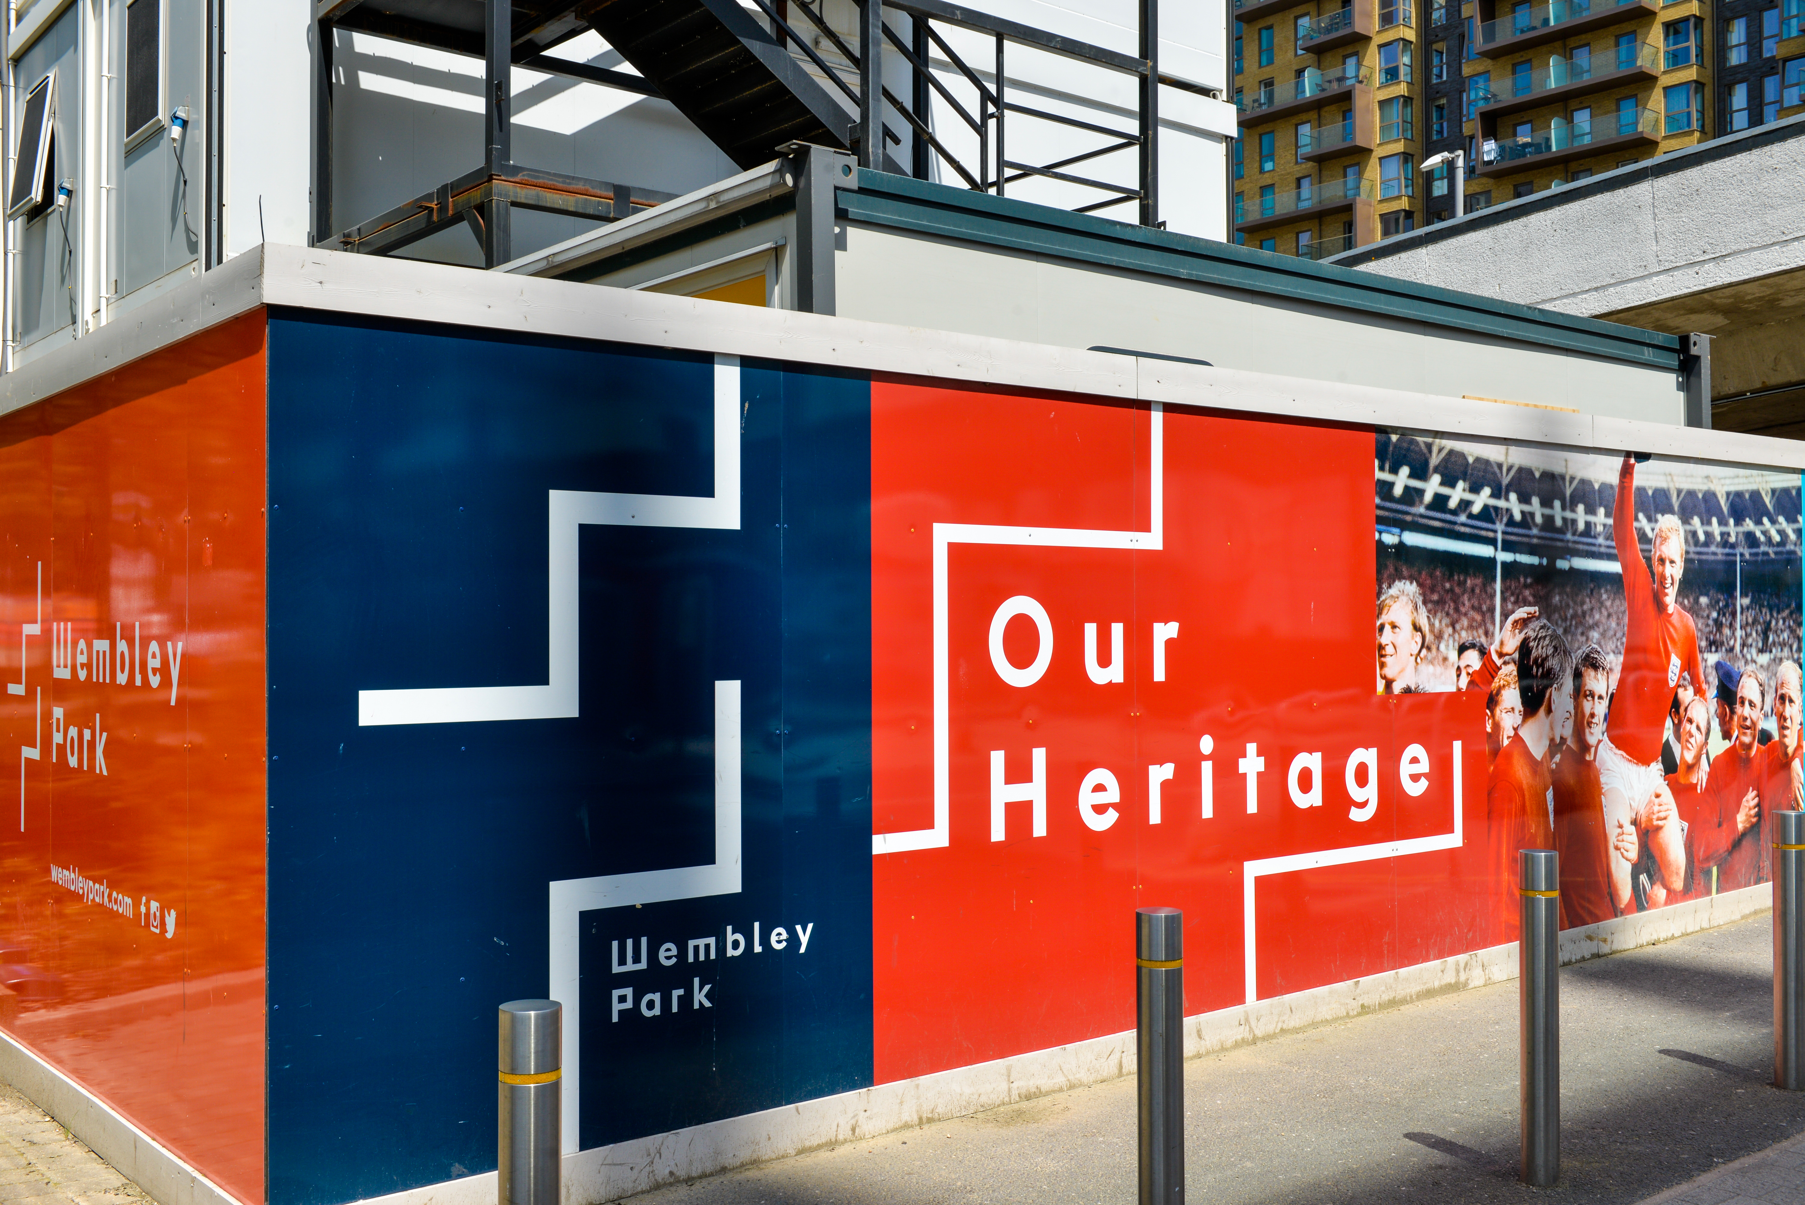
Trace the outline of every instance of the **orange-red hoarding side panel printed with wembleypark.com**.
[[244, 1201], [264, 384], [258, 312], [0, 419], [0, 1025]]

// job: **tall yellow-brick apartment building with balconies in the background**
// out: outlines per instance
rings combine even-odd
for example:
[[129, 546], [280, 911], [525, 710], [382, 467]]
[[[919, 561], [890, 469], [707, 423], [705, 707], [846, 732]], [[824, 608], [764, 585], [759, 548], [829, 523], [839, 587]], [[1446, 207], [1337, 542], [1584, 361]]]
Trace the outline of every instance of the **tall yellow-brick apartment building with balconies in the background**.
[[1244, 0], [1236, 242], [1325, 258], [1805, 112], [1805, 0]]

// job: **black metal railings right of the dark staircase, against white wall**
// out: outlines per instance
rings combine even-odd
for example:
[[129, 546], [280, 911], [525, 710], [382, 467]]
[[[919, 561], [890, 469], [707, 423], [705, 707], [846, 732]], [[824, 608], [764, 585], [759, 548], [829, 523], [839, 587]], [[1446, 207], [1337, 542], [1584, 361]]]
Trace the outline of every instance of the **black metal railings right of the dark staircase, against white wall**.
[[[1078, 206], [1076, 213], [1092, 213], [1126, 202], [1139, 204], [1143, 225], [1159, 224], [1159, 150], [1153, 130], [1159, 126], [1159, 85], [1195, 92], [1199, 96], [1217, 96], [1215, 88], [1177, 79], [1159, 72], [1159, 27], [1155, 0], [1139, 0], [1141, 47], [1139, 54], [1123, 54], [1106, 47], [1051, 34], [1041, 29], [1020, 25], [996, 16], [975, 13], [946, 0], [857, 0], [859, 5], [859, 49], [832, 29], [823, 13], [825, 0], [791, 0], [787, 13], [780, 13], [773, 0], [753, 0], [771, 22], [771, 31], [780, 45], [800, 51], [814, 69], [838, 88], [859, 119], [848, 130], [848, 144], [859, 153], [859, 164], [883, 170], [890, 162], [890, 148], [901, 146], [902, 137], [890, 124], [879, 121], [883, 105], [872, 105], [872, 97], [883, 101], [913, 132], [913, 155], [902, 168], [915, 179], [930, 179], [933, 164], [940, 162], [964, 184], [980, 193], [1004, 197], [1011, 184], [1029, 179], [1060, 180], [1079, 188], [1105, 193], [1101, 200]], [[901, 13], [910, 18], [908, 36], [899, 34], [884, 22], [884, 11]], [[792, 20], [798, 18], [798, 20]], [[807, 22], [819, 38], [810, 38], [798, 25]], [[969, 63], [942, 36], [939, 27], [953, 27], [984, 34], [991, 40], [991, 61], [982, 69]], [[875, 31], [881, 31], [881, 40]], [[816, 41], [825, 41], [845, 60], [847, 67], [836, 67], [818, 49]], [[883, 43], [902, 58], [910, 69], [910, 97], [904, 101], [883, 79], [883, 54], [868, 54]], [[1137, 85], [1137, 112], [1134, 128], [1121, 128], [1097, 121], [1083, 121], [1067, 114], [1049, 112], [1014, 99], [1007, 88], [1007, 49], [1027, 47], [1032, 52], [1051, 52], [1099, 67], [1108, 72], [1130, 76]], [[953, 87], [966, 90], [966, 99], [953, 92]], [[931, 112], [939, 105], [939, 112]], [[877, 112], [874, 112], [877, 110]], [[1020, 162], [1007, 155], [1009, 117], [1023, 117], [1034, 123], [1051, 123], [1065, 130], [1081, 132], [1090, 141], [1074, 155], [1054, 159], [1052, 162]], [[937, 133], [935, 123], [940, 132]], [[977, 155], [958, 155], [942, 133], [951, 130], [967, 132], [977, 139]], [[881, 133], [879, 133], [881, 128]], [[1043, 128], [1043, 126], [1041, 126]], [[877, 148], [877, 143], [883, 148]], [[1139, 180], [1135, 188], [1114, 184], [1096, 177], [1070, 171], [1078, 164], [1092, 162], [1106, 155], [1135, 152], [1139, 157]], [[899, 164], [901, 166], [901, 164]]]

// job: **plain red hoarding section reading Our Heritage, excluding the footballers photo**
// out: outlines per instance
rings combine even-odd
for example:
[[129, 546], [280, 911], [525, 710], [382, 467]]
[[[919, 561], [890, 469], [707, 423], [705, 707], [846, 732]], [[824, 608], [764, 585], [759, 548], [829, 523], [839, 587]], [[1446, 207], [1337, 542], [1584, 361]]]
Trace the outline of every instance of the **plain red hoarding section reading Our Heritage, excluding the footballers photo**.
[[1482, 702], [1374, 693], [1372, 449], [872, 386], [879, 1082], [1132, 1026], [1137, 906], [1193, 1014], [1489, 940]]

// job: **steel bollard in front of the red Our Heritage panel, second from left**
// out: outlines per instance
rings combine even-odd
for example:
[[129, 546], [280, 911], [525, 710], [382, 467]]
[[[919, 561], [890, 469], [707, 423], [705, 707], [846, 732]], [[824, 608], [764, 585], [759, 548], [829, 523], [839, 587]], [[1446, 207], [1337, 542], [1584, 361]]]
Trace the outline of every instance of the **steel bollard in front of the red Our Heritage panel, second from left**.
[[1141, 1205], [1184, 1205], [1184, 913], [1137, 907]]

